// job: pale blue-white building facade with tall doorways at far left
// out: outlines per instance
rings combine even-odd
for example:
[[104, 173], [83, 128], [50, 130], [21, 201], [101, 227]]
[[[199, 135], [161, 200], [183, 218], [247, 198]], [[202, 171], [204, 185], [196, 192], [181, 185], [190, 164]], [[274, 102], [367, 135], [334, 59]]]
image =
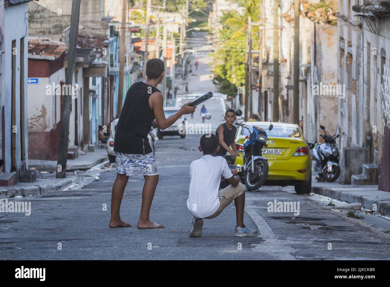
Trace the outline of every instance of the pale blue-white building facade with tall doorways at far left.
[[0, 1], [0, 184], [19, 181], [28, 168], [27, 71], [30, 0]]

